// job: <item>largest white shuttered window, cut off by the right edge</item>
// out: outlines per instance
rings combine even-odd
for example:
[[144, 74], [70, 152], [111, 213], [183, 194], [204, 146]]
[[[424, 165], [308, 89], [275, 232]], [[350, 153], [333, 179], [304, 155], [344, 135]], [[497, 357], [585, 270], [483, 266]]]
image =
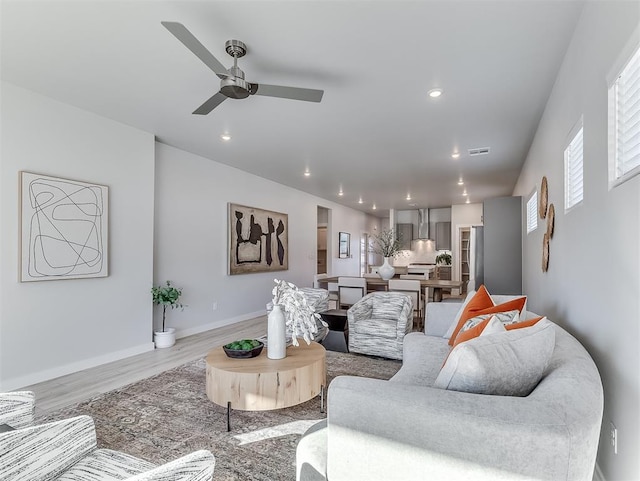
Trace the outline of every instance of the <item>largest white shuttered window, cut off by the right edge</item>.
[[640, 48], [609, 89], [610, 184], [640, 173]]

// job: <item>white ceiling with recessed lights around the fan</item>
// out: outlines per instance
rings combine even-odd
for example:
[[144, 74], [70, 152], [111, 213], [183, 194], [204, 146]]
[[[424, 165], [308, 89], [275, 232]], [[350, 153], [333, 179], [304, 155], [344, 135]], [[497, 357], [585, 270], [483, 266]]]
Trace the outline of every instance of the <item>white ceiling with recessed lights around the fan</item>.
[[[471, 202], [511, 194], [582, 5], [2, 0], [2, 78], [385, 216], [463, 203], [460, 177]], [[224, 42], [242, 40], [248, 81], [324, 89], [322, 102], [252, 96], [192, 115], [219, 80], [165, 20], [226, 66]], [[436, 100], [426, 94], [435, 87], [444, 90]], [[491, 152], [470, 157], [477, 147]]]

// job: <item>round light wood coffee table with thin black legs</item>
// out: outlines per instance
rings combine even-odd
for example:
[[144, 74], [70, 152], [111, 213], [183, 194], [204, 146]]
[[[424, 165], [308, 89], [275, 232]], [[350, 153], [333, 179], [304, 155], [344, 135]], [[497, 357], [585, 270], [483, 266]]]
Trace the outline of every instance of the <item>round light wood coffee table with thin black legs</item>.
[[316, 342], [287, 348], [284, 359], [269, 359], [266, 347], [251, 359], [232, 359], [222, 347], [207, 355], [207, 397], [230, 410], [268, 411], [303, 403], [321, 394], [327, 382], [326, 351]]

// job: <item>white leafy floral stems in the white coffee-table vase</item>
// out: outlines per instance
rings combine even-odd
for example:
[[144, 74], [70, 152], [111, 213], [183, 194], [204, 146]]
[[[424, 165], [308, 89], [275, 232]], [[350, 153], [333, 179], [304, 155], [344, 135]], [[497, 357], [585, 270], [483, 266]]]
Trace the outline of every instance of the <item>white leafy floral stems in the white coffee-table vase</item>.
[[282, 308], [287, 327], [292, 333], [293, 345], [299, 345], [298, 337], [311, 344], [312, 335], [318, 332], [316, 319], [320, 319], [320, 314], [307, 303], [304, 294], [295, 284], [278, 279], [274, 279], [274, 282], [273, 305]]

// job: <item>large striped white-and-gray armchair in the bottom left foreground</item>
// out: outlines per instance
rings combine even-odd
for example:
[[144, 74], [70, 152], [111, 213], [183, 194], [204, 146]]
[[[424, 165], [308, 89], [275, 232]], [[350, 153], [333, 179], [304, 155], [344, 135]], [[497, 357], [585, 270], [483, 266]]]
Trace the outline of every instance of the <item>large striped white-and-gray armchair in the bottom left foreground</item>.
[[213, 454], [205, 450], [156, 466], [98, 449], [89, 416], [0, 433], [3, 481], [211, 481], [214, 466]]

